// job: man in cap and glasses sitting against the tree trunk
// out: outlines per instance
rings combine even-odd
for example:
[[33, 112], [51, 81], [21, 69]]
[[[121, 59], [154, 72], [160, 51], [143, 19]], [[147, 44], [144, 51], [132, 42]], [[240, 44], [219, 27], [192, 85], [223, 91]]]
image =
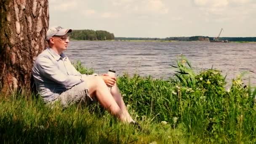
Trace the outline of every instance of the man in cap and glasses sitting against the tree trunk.
[[[69, 44], [67, 33], [72, 29], [52, 27], [46, 33], [49, 48], [46, 48], [35, 60], [32, 74], [37, 91], [47, 104], [60, 101], [68, 107], [71, 104], [97, 99], [120, 121], [137, 123], [129, 115], [117, 88], [116, 77], [107, 74], [98, 76], [82, 75], [77, 72], [67, 56], [64, 55]], [[108, 86], [112, 86], [109, 91]]]

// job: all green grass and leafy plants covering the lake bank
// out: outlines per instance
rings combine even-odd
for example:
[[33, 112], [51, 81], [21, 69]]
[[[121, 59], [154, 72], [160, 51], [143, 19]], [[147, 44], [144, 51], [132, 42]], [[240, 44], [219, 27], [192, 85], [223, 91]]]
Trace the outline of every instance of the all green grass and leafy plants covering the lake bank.
[[[82, 72], [93, 70], [75, 64]], [[225, 89], [216, 69], [195, 73], [181, 57], [174, 78], [124, 74], [117, 84], [142, 131], [99, 107], [46, 107], [40, 99], [13, 94], [0, 101], [0, 141], [5, 143], [255, 143], [255, 88], [241, 76]], [[164, 125], [162, 121], [166, 121]], [[162, 122], [162, 123], [161, 123]]]

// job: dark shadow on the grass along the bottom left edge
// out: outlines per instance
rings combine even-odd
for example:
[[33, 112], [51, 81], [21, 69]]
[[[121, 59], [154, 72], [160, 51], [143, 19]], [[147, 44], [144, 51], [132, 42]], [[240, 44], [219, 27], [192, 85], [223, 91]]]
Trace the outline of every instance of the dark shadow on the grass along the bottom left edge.
[[122, 129], [118, 131], [110, 127], [108, 131], [101, 131], [99, 123], [95, 125], [93, 122], [72, 126], [73, 123], [63, 120], [60, 124], [46, 122], [45, 125], [33, 126], [23, 120], [3, 117], [0, 123], [0, 141], [4, 143], [124, 143], [120, 136]]

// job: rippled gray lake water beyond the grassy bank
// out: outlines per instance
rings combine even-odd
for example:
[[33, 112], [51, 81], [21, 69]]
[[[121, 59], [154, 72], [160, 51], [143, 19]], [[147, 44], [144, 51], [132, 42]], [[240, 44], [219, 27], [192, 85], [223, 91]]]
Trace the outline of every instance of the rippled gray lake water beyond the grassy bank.
[[[210, 42], [129, 42], [129, 41], [75, 41], [64, 52], [71, 61], [80, 60], [85, 67], [96, 73], [113, 69], [117, 75], [124, 72], [155, 78], [172, 77], [181, 53], [187, 57], [195, 71], [213, 66], [227, 75], [230, 81], [243, 71], [256, 72], [256, 43], [210, 43]], [[256, 74], [249, 72], [256, 83]]]

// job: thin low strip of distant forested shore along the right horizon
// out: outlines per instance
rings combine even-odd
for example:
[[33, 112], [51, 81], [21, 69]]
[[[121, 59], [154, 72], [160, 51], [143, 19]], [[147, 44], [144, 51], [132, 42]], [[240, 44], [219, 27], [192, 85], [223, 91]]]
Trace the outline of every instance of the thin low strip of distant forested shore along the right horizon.
[[[204, 36], [193, 36], [193, 37], [166, 37], [166, 38], [151, 38], [151, 37], [115, 37], [115, 40], [179, 40], [179, 41], [197, 41], [200, 38], [209, 38], [213, 40], [214, 37], [204, 37]], [[219, 40], [228, 41], [246, 41], [246, 42], [256, 42], [256, 37], [220, 37]], [[205, 39], [203, 39], [205, 41]]]

